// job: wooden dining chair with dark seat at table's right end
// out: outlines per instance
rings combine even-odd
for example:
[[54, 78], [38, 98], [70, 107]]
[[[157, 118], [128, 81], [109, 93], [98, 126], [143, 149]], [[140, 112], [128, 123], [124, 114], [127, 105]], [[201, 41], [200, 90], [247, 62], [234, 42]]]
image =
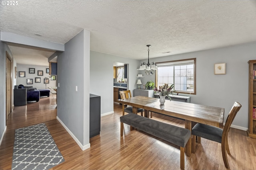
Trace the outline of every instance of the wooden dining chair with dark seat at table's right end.
[[192, 128], [192, 153], [195, 153], [196, 151], [196, 136], [199, 139], [200, 137], [202, 137], [204, 139], [221, 143], [222, 158], [225, 167], [229, 169], [227, 158], [227, 152], [228, 154], [230, 154], [230, 150], [228, 147], [228, 131], [230, 129], [232, 121], [236, 116], [236, 113], [240, 110], [241, 107], [242, 106], [240, 103], [234, 103], [226, 119], [224, 129], [215, 126], [205, 125], [202, 123], [196, 123], [196, 125]]

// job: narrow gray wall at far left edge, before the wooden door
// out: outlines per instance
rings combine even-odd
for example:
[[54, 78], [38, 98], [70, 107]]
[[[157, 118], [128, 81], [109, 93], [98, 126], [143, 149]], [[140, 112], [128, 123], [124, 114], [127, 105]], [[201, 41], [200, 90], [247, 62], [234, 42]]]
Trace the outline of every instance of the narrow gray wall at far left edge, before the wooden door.
[[12, 57], [9, 47], [0, 41], [0, 139], [6, 127], [6, 51]]

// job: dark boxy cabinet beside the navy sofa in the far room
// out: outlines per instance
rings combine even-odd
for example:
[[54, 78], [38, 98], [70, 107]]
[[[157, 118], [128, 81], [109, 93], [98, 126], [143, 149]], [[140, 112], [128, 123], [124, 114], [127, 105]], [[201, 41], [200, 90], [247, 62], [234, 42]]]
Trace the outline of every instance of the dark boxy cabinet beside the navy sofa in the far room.
[[27, 89], [14, 89], [14, 106], [27, 105]]

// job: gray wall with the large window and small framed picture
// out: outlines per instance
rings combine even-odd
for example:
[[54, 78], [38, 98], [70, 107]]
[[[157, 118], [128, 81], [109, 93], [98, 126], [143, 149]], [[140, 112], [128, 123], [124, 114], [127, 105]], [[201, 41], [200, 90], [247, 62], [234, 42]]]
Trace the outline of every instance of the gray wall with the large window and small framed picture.
[[[235, 101], [242, 108], [236, 115], [232, 127], [248, 128], [248, 61], [256, 59], [256, 43], [248, 43], [150, 59], [150, 62], [196, 58], [196, 95], [191, 102], [208, 106], [223, 107], [224, 121]], [[226, 63], [226, 74], [214, 75], [214, 63]], [[143, 72], [143, 71], [140, 71]], [[144, 80], [155, 81], [155, 75]], [[181, 94], [183, 95], [183, 94]]]

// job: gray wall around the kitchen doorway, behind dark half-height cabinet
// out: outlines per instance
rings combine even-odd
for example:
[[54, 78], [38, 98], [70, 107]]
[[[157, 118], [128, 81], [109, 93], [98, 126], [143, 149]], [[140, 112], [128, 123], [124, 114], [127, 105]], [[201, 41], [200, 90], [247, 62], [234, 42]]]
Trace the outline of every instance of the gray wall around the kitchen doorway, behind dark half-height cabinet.
[[139, 61], [90, 51], [90, 93], [101, 96], [101, 114], [114, 113], [113, 64], [128, 64], [128, 90], [137, 88]]

